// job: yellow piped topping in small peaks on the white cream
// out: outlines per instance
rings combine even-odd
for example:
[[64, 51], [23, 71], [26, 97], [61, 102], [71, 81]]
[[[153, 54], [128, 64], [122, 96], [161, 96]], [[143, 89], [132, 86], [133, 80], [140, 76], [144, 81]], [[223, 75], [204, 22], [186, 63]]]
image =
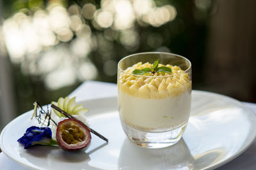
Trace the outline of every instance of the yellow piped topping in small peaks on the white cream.
[[[167, 64], [172, 73], [146, 73], [143, 76], [132, 74], [134, 69], [151, 67], [152, 64], [138, 62], [125, 69], [118, 79], [118, 88], [126, 94], [143, 99], [163, 99], [165, 97], [179, 96], [191, 90], [191, 80], [178, 66]], [[164, 66], [159, 64], [159, 67]]]

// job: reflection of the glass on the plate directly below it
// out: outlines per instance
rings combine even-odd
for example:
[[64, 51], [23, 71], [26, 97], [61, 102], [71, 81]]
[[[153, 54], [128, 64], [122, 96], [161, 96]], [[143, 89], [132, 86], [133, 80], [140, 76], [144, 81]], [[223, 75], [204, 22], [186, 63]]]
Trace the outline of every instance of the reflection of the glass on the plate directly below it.
[[193, 157], [183, 139], [167, 148], [141, 148], [125, 139], [118, 159], [119, 169], [190, 169]]

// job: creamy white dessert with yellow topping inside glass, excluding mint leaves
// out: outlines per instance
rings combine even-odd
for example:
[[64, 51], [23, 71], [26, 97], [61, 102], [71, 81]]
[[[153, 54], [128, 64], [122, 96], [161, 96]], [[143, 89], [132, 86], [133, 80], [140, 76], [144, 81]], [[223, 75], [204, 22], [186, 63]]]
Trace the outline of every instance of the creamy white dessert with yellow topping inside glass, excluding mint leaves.
[[[134, 76], [134, 69], [151, 67], [148, 62], [128, 67], [118, 78], [118, 110], [122, 122], [143, 131], [170, 131], [188, 122], [191, 80], [180, 67], [166, 65], [172, 73]], [[163, 64], [159, 64], [159, 67]]]

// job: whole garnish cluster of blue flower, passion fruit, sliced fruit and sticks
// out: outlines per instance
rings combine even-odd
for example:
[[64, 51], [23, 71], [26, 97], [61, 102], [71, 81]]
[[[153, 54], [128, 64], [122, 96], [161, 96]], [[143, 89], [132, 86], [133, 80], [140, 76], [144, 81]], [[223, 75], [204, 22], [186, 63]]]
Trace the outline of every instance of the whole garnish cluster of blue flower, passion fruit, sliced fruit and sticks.
[[[72, 99], [61, 97], [58, 103], [52, 102], [52, 110], [60, 117], [55, 116], [57, 120], [52, 117], [49, 106], [47, 106], [47, 111], [45, 111], [36, 101], [31, 119], [35, 117], [38, 120], [38, 124], [47, 127], [29, 127], [24, 136], [18, 139], [18, 142], [24, 145], [25, 149], [33, 145], [59, 145], [63, 150], [79, 150], [90, 144], [92, 138], [90, 132], [92, 132], [108, 143], [107, 138], [83, 123], [84, 118], [80, 120], [82, 116], [80, 118], [74, 116], [82, 115], [88, 111], [87, 108], [83, 108], [82, 104], [76, 105], [75, 100], [76, 97]], [[65, 117], [65, 119], [61, 117]], [[56, 139], [52, 139], [52, 132], [54, 131], [56, 131]]]

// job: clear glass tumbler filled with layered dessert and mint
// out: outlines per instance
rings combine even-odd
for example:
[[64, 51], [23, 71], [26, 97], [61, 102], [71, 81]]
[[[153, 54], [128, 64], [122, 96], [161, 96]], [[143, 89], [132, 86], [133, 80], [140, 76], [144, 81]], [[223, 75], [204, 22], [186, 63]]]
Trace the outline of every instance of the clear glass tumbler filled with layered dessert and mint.
[[191, 63], [173, 53], [145, 52], [118, 62], [118, 112], [128, 138], [146, 148], [172, 146], [191, 108]]

